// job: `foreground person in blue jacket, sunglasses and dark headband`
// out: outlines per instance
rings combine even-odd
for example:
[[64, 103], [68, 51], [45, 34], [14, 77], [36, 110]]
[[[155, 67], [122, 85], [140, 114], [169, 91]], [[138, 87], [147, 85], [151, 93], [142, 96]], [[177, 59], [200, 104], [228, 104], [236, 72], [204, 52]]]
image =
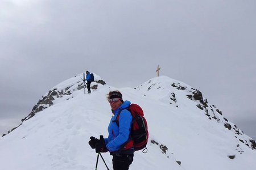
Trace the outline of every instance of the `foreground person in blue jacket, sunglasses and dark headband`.
[[[119, 91], [110, 91], [107, 98], [114, 114], [109, 123], [108, 138], [90, 137], [89, 145], [95, 148], [97, 153], [109, 151], [110, 155], [113, 155], [114, 170], [127, 170], [134, 156], [133, 141], [129, 139], [133, 117], [126, 109], [131, 103], [127, 100], [123, 101]], [[118, 124], [117, 116], [119, 116]]]

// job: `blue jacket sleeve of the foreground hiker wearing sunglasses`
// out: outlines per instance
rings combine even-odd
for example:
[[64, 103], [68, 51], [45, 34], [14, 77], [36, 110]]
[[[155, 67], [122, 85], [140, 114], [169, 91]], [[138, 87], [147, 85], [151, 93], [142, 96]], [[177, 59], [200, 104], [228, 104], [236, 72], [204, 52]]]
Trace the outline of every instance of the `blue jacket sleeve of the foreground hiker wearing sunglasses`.
[[129, 139], [132, 120], [133, 117], [131, 116], [131, 113], [126, 109], [119, 114], [119, 133], [117, 137], [110, 142], [105, 141], [108, 143], [106, 146], [109, 151], [118, 150], [118, 148]]

